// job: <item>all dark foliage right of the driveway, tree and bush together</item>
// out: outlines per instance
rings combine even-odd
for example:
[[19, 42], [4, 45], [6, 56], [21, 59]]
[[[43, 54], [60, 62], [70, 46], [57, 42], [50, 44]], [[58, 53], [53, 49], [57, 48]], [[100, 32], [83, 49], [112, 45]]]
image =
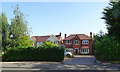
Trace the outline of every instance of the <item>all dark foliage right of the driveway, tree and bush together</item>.
[[112, 1], [103, 11], [107, 35], [94, 36], [95, 56], [98, 60], [118, 61], [120, 60], [120, 1]]

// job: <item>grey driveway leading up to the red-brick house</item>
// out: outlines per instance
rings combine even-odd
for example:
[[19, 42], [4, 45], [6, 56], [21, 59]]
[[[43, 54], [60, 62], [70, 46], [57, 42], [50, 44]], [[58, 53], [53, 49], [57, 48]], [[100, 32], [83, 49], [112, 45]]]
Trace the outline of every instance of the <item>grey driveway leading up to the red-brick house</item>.
[[67, 65], [95, 65], [95, 57], [93, 55], [76, 55], [71, 60], [64, 61]]

